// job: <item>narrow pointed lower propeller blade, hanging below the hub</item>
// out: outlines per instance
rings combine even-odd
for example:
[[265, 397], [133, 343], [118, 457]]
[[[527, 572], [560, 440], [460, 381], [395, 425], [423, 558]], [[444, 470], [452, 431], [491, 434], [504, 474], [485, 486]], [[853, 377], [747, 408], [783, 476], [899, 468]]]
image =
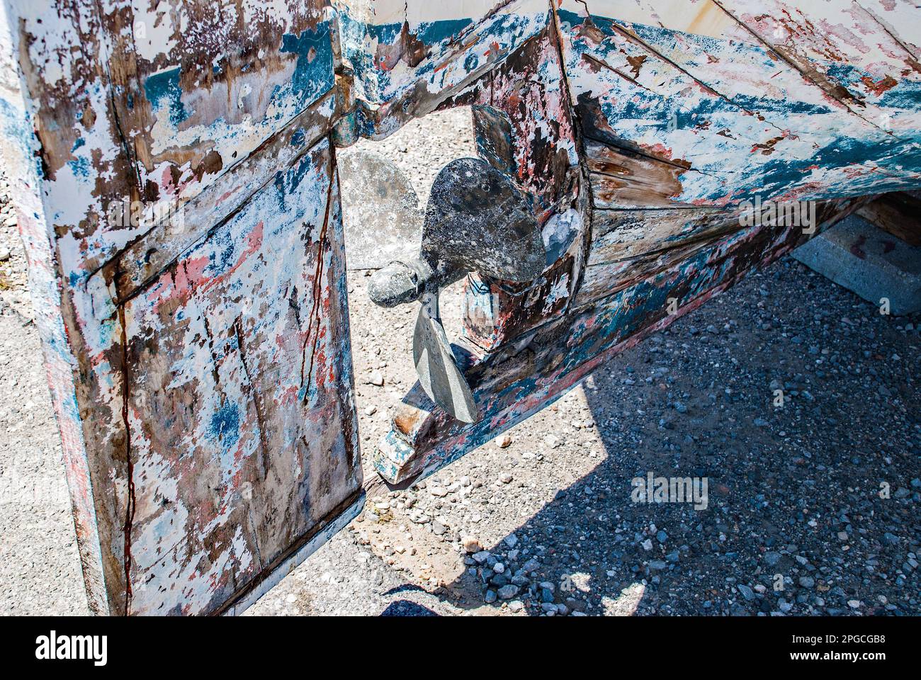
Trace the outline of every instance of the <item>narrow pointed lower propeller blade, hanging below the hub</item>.
[[413, 360], [419, 384], [429, 399], [461, 422], [476, 422], [478, 411], [473, 393], [458, 368], [438, 316], [437, 293], [426, 293], [422, 298], [422, 309], [415, 320]]

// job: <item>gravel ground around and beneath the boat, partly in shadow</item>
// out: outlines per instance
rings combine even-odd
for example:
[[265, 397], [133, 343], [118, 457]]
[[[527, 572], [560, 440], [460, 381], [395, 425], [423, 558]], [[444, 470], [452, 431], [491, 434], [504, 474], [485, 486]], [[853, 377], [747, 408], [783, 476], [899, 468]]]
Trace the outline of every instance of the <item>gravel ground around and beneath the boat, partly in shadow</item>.
[[[469, 138], [466, 111], [449, 111], [375, 148], [426, 195]], [[0, 205], [0, 612], [80, 614], [8, 216]], [[366, 284], [350, 273], [369, 451], [414, 382], [415, 310], [374, 307]], [[443, 307], [457, 334], [458, 289]], [[249, 614], [917, 615], [919, 324], [784, 259], [419, 487], [375, 498]], [[649, 472], [706, 478], [706, 509], [632, 502]]]

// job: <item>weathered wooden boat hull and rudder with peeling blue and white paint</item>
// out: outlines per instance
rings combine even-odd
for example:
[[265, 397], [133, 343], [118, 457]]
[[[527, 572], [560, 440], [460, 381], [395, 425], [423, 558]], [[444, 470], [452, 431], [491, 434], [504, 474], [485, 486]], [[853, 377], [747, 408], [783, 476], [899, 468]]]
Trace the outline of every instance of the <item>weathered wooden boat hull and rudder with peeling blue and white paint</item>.
[[0, 150], [91, 609], [238, 612], [360, 508], [333, 142], [472, 106], [553, 253], [530, 283], [469, 276], [484, 419], [409, 393], [375, 452], [405, 481], [806, 238], [740, 201], [828, 225], [921, 187], [918, 13], [0, 0]]

